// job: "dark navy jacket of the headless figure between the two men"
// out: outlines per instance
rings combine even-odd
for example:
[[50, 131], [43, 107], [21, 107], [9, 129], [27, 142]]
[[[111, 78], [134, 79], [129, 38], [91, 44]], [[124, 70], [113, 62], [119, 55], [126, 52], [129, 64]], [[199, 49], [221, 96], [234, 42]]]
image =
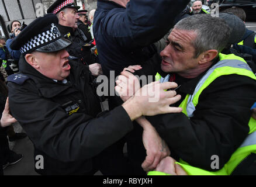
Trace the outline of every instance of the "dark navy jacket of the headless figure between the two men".
[[94, 37], [105, 75], [141, 64], [156, 50], [151, 45], [173, 26], [188, 0], [131, 0], [126, 8], [99, 0], [94, 15]]

